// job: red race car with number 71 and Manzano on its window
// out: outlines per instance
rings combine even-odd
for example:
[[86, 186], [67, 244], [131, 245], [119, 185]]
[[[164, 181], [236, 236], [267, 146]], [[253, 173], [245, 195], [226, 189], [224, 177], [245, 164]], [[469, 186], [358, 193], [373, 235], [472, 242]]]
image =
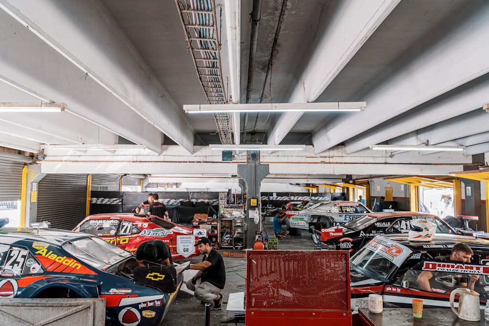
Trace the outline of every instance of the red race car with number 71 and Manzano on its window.
[[90, 215], [73, 229], [100, 237], [133, 253], [145, 241], [163, 240], [170, 246], [173, 261], [200, 255], [194, 246], [199, 235], [194, 236], [193, 230], [154, 215], [124, 213]]

